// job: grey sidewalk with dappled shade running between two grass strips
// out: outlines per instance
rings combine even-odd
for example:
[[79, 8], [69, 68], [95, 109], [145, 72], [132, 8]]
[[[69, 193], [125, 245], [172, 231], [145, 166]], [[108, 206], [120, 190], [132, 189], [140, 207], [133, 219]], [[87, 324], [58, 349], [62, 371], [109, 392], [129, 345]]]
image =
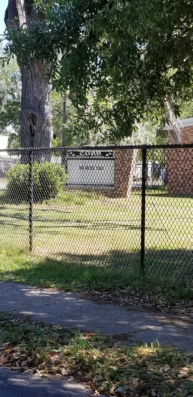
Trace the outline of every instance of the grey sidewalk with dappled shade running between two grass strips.
[[0, 282], [0, 310], [83, 331], [127, 334], [137, 342], [157, 339], [193, 354], [193, 323], [165, 313], [101, 304], [86, 295], [4, 282]]

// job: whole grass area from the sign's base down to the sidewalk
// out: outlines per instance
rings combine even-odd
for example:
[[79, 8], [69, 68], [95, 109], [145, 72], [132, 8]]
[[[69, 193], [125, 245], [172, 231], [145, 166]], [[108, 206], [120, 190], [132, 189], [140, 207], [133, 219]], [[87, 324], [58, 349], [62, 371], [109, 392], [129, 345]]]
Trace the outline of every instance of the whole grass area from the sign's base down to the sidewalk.
[[110, 199], [69, 190], [34, 204], [0, 197], [0, 280], [67, 291], [129, 291], [166, 302], [192, 299], [193, 199], [147, 192], [145, 277], [140, 273], [139, 192]]

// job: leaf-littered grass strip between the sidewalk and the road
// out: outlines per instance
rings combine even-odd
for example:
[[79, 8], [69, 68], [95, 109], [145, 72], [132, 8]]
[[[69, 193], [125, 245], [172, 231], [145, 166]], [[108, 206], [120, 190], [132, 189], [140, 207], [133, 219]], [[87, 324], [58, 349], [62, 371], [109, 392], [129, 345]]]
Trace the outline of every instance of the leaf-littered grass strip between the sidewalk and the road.
[[[193, 360], [175, 349], [32, 322], [0, 312], [0, 365], [71, 377], [108, 396], [192, 396]], [[130, 394], [132, 393], [132, 394]]]

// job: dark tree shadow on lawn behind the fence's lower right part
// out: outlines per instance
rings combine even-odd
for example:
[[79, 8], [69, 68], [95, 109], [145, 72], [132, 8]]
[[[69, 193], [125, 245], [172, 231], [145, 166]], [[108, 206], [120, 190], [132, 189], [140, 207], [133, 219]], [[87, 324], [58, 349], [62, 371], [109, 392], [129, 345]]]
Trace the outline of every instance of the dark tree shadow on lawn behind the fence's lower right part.
[[[112, 250], [110, 252], [92, 254], [66, 254], [52, 253], [54, 258], [62, 258], [62, 263], [67, 265], [89, 265], [102, 266], [105, 269], [127, 270], [130, 273], [141, 274], [140, 250], [128, 252], [123, 250]], [[60, 262], [60, 261], [59, 261]], [[146, 250], [144, 259], [145, 275], [150, 277], [167, 277], [192, 282], [193, 278], [193, 251], [181, 249]]]

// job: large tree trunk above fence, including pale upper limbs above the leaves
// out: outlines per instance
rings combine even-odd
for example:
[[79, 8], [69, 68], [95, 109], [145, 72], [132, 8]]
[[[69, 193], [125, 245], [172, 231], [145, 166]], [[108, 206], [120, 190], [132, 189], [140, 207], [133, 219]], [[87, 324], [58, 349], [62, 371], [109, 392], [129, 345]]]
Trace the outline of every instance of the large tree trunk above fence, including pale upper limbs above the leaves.
[[[42, 21], [42, 14], [34, 12], [33, 0], [8, 0], [5, 11], [7, 29], [32, 28], [33, 21]], [[17, 56], [17, 54], [16, 54]], [[48, 65], [36, 62], [21, 70], [22, 95], [19, 123], [22, 147], [50, 147], [53, 136], [51, 115], [51, 86], [44, 78]]]

